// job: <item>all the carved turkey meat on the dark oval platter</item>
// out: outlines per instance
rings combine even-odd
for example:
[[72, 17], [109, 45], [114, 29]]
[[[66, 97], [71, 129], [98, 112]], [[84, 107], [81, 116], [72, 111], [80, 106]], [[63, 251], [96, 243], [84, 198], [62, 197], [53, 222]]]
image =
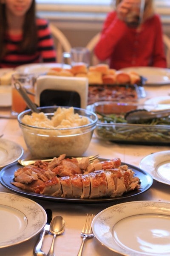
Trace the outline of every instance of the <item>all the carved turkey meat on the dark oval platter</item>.
[[[59, 157], [52, 162], [42, 164], [39, 160], [18, 169], [12, 184], [35, 193], [64, 198], [117, 197], [140, 187], [139, 178], [134, 177], [127, 165], [121, 166], [119, 158], [94, 160], [91, 164], [82, 158], [82, 164], [76, 158]], [[67, 175], [60, 177], [59, 173]]]

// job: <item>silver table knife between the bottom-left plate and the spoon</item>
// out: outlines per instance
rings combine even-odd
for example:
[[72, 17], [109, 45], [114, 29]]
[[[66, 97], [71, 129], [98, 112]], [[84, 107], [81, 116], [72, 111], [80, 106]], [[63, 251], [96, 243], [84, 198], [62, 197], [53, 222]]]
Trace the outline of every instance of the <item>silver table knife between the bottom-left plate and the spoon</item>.
[[51, 222], [53, 216], [52, 216], [51, 209], [46, 209], [45, 212], [47, 214], [47, 223], [45, 224], [45, 227], [40, 232], [40, 234], [38, 236], [38, 239], [37, 239], [37, 242], [36, 242], [36, 244], [34, 246], [34, 250], [33, 250], [34, 256], [38, 256], [38, 255], [40, 255], [40, 253], [41, 253], [41, 255], [46, 255], [41, 250], [42, 242], [43, 242], [45, 234], [47, 234], [49, 232], [49, 230], [50, 230], [50, 222]]

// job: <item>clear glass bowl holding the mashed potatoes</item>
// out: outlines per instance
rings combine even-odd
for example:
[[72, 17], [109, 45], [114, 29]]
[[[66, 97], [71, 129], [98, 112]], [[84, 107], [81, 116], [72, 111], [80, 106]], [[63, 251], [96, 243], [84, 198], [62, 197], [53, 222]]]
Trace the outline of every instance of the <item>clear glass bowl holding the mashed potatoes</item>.
[[[38, 108], [45, 113], [48, 119], [54, 117], [54, 112], [58, 108], [70, 107], [42, 107]], [[31, 152], [31, 155], [37, 157], [56, 157], [60, 154], [66, 156], [81, 156], [88, 148], [91, 141], [94, 129], [96, 128], [97, 116], [91, 111], [81, 108], [73, 108], [74, 113], [79, 115], [80, 119], [84, 117], [88, 119], [88, 124], [76, 126], [76, 119], [74, 127], [65, 128], [47, 128], [37, 127], [32, 124], [23, 122], [23, 117], [31, 116], [32, 111], [26, 110], [20, 113], [17, 117], [20, 128], [23, 132], [23, 137], [26, 145]], [[68, 121], [66, 120], [66, 123]]]

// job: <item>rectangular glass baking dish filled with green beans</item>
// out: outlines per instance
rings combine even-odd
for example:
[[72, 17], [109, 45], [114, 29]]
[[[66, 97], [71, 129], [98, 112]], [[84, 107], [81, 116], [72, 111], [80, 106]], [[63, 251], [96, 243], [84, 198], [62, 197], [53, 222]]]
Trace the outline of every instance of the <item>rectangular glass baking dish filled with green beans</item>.
[[127, 113], [143, 109], [155, 110], [156, 105], [128, 102], [96, 102], [88, 105], [88, 110], [98, 116], [95, 134], [100, 139], [115, 143], [170, 145], [170, 115], [140, 120], [141, 122], [127, 122]]

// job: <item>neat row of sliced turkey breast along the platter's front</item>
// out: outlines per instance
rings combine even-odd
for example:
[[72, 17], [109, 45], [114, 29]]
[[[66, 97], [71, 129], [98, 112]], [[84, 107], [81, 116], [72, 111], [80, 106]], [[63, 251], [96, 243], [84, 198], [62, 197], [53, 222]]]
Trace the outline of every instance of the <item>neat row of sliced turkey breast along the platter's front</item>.
[[[73, 198], [102, 198], [102, 197], [117, 197], [125, 192], [139, 188], [139, 178], [132, 177], [131, 169], [121, 172], [120, 169], [108, 169], [97, 172], [91, 172], [86, 175], [73, 175], [67, 177], [69, 186], [63, 186], [62, 177], [56, 180], [56, 177], [48, 180], [42, 185], [35, 188], [35, 192], [45, 195], [54, 195], [53, 186], [58, 185], [59, 180], [61, 190], [56, 196], [73, 197]], [[128, 178], [127, 178], [128, 177]]]

